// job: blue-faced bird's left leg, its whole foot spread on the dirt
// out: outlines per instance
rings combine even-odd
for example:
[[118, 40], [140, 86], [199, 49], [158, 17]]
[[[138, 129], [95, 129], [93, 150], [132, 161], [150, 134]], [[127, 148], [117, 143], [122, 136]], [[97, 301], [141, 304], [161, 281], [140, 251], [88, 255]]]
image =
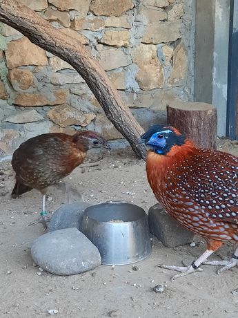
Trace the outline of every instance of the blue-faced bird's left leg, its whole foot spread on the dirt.
[[208, 256], [210, 256], [213, 252], [215, 252], [215, 250], [217, 250], [221, 245], [223, 244], [223, 242], [221, 241], [213, 241], [213, 240], [207, 240], [207, 249], [206, 251], [201, 254], [201, 256], [199, 256], [199, 258], [196, 261], [193, 261], [191, 265], [189, 266], [168, 266], [168, 265], [157, 265], [160, 268], [166, 268], [166, 270], [176, 270], [177, 272], [181, 272], [181, 274], [177, 274], [175, 276], [172, 277], [172, 281], [174, 281], [175, 279], [179, 278], [179, 277], [183, 277], [186, 276], [188, 274], [194, 273], [196, 271], [203, 271], [201, 268], [199, 268], [199, 266], [201, 265], [201, 263], [204, 263], [206, 261], [206, 259], [208, 258]]

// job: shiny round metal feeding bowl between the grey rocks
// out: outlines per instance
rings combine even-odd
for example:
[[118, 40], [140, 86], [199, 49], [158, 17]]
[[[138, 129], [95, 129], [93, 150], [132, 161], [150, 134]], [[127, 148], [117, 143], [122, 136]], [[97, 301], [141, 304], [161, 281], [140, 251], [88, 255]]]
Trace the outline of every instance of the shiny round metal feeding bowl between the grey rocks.
[[87, 207], [81, 232], [97, 246], [103, 265], [126, 265], [151, 252], [146, 212], [130, 203], [102, 203]]

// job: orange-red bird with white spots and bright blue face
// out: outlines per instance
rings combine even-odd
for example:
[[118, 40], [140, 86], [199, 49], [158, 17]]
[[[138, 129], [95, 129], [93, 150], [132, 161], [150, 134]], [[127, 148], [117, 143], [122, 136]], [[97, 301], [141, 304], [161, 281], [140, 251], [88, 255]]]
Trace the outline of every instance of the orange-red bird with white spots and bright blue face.
[[195, 147], [174, 127], [155, 125], [141, 136], [150, 150], [146, 172], [150, 187], [166, 211], [186, 229], [199, 234], [207, 249], [188, 267], [160, 265], [181, 274], [199, 265], [224, 265], [218, 274], [238, 264], [238, 248], [229, 261], [206, 261], [224, 242], [238, 243], [238, 158]]

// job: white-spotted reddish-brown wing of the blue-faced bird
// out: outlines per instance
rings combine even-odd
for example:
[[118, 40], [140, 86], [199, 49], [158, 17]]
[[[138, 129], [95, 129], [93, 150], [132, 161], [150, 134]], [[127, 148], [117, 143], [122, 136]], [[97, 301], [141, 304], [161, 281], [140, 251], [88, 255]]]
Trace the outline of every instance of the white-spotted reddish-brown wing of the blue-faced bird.
[[238, 224], [238, 158], [221, 151], [199, 149], [181, 167], [183, 187], [211, 219]]

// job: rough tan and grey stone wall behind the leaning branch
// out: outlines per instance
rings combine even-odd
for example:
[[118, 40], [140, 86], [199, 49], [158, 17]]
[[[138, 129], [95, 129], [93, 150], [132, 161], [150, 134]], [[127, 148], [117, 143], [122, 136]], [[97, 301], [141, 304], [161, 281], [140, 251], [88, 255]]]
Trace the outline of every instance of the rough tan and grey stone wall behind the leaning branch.
[[[21, 0], [88, 46], [146, 129], [166, 122], [166, 104], [193, 95], [192, 0]], [[81, 76], [1, 24], [0, 149], [40, 133], [95, 129], [121, 138]]]

